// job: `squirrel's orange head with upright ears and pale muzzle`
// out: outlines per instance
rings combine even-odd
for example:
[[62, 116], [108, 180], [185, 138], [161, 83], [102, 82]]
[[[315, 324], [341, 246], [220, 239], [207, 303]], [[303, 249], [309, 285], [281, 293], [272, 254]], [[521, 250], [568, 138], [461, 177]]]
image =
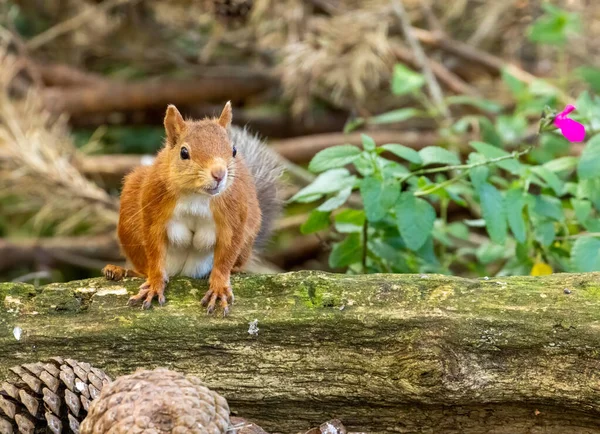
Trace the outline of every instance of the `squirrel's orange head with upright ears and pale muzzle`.
[[235, 178], [236, 149], [229, 140], [231, 103], [218, 119], [184, 120], [174, 105], [165, 116], [170, 181], [181, 192], [216, 196]]

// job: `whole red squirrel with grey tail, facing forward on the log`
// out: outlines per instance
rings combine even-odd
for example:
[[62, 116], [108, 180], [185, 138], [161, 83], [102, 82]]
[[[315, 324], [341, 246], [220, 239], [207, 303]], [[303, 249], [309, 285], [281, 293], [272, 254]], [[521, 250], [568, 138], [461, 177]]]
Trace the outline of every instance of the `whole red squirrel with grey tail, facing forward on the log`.
[[133, 269], [107, 265], [109, 280], [145, 277], [129, 304], [165, 303], [169, 277], [210, 275], [202, 305], [223, 315], [234, 296], [230, 274], [264, 246], [281, 211], [277, 155], [256, 136], [220, 117], [184, 120], [174, 105], [164, 119], [166, 141], [151, 166], [125, 177], [117, 233]]

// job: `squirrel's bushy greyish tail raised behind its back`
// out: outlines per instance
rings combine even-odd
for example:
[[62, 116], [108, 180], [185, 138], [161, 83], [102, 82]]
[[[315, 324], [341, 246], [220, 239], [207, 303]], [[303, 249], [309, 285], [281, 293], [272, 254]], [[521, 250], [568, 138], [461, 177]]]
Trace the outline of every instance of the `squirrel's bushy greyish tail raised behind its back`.
[[275, 220], [281, 214], [283, 207], [277, 195], [277, 186], [283, 173], [283, 165], [279, 156], [246, 128], [231, 126], [229, 137], [238, 152], [243, 155], [246, 165], [254, 177], [262, 213], [262, 223], [254, 245], [257, 250], [260, 250], [266, 246]]

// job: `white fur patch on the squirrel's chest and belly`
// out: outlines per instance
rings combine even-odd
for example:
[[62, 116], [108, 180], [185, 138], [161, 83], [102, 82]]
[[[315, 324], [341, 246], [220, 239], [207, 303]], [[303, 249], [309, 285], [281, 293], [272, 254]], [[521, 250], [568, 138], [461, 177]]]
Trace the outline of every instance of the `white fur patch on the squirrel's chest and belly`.
[[199, 278], [210, 273], [217, 234], [207, 196], [190, 195], [177, 202], [167, 223], [167, 239], [169, 276]]

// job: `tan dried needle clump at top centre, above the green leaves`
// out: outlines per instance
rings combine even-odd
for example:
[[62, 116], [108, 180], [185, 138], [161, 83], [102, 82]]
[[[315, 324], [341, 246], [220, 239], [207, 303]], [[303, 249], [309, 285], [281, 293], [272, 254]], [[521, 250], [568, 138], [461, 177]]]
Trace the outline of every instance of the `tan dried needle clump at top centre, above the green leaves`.
[[394, 58], [388, 16], [380, 9], [313, 19], [307, 37], [282, 50], [279, 71], [294, 113], [306, 111], [315, 95], [360, 108], [389, 81]]

